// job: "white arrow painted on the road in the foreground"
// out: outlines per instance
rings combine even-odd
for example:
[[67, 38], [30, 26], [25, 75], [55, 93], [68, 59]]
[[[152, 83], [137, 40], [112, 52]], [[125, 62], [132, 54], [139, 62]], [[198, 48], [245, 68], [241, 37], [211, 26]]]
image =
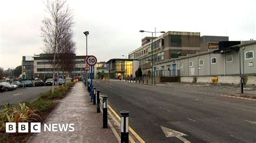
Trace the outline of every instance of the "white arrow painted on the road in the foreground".
[[187, 134], [172, 130], [171, 128], [167, 128], [167, 127], [164, 127], [164, 126], [160, 126], [160, 127], [163, 130], [163, 132], [164, 132], [164, 134], [167, 138], [168, 137], [176, 137], [176, 138], [180, 139], [183, 142], [190, 142], [190, 141], [186, 140], [185, 138], [181, 137], [181, 136], [185, 136]]

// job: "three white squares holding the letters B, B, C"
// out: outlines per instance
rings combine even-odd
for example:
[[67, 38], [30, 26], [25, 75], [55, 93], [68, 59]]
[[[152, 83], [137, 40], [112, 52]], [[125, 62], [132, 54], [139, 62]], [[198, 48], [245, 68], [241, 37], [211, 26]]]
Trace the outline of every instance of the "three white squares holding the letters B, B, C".
[[[6, 123], [6, 133], [16, 133], [16, 123]], [[18, 123], [18, 132], [19, 133], [28, 133], [29, 132], [29, 123]], [[31, 133], [40, 133], [41, 132], [41, 123], [30, 123], [30, 132]]]

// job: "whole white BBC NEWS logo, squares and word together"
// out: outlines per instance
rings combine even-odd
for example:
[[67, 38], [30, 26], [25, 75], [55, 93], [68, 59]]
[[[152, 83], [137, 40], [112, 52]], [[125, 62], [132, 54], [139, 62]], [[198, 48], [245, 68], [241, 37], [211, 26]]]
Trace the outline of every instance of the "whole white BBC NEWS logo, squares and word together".
[[[44, 132], [73, 132], [75, 124], [44, 124]], [[6, 123], [6, 133], [16, 133], [16, 123]], [[29, 123], [18, 123], [18, 133], [28, 133]], [[30, 123], [31, 133], [41, 133], [41, 123]]]

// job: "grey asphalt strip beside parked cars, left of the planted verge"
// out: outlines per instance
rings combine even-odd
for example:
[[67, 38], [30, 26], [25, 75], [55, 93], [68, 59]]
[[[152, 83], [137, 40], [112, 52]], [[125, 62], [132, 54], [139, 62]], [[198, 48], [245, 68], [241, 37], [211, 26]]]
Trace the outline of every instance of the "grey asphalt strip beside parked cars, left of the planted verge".
[[18, 104], [21, 101], [32, 101], [38, 98], [40, 93], [46, 92], [49, 89], [51, 89], [51, 86], [17, 88], [12, 91], [0, 92], [0, 108], [7, 102]]

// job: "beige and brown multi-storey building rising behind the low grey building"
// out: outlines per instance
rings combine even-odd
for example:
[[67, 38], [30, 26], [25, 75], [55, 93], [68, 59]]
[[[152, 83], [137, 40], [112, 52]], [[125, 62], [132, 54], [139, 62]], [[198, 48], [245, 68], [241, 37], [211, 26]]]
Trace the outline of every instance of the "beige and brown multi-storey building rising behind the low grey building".
[[129, 59], [138, 59], [143, 74], [152, 70], [152, 65], [182, 55], [200, 51], [199, 32], [169, 31], [159, 37], [142, 39], [142, 46], [129, 53]]

